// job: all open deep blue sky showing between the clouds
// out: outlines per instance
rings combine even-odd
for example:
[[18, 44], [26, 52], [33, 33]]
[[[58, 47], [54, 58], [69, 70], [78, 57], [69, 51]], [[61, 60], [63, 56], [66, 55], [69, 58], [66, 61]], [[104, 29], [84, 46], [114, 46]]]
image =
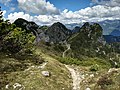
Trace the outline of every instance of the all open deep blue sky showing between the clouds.
[[[20, 12], [20, 11], [24, 12], [24, 10], [21, 10], [20, 8], [18, 8], [17, 0], [11, 0], [10, 2], [7, 2], [7, 1], [6, 2], [3, 0], [0, 1], [0, 6], [2, 7], [2, 10], [7, 11], [5, 14], [6, 18], [10, 13]], [[91, 0], [46, 0], [46, 2], [47, 1], [53, 4], [60, 11], [63, 11], [64, 9], [68, 9], [70, 11], [76, 11], [76, 10], [89, 7], [91, 4]], [[11, 10], [12, 8], [14, 8], [15, 10]], [[32, 15], [35, 15], [35, 14], [32, 14]]]

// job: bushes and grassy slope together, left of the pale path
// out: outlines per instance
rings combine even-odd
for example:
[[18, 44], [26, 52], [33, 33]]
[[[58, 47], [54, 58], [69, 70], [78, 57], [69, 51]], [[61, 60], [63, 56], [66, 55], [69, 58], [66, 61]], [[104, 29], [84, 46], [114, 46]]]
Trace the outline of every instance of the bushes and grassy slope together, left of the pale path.
[[[0, 19], [0, 90], [72, 89], [69, 71], [35, 47], [33, 33], [2, 20], [2, 16]], [[47, 65], [41, 68], [43, 62]], [[45, 77], [42, 71], [49, 71], [50, 76]]]

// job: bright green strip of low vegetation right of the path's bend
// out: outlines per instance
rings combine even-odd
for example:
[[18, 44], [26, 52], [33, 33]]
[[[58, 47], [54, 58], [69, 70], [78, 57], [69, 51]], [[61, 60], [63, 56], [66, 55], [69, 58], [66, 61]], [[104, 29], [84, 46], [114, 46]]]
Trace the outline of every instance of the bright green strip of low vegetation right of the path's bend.
[[85, 66], [85, 67], [90, 67], [90, 71], [97, 71], [101, 69], [109, 69], [111, 67], [111, 64], [105, 60], [105, 59], [100, 59], [100, 58], [89, 58], [89, 57], [84, 57], [81, 59], [74, 59], [74, 58], [58, 58], [58, 60], [61, 63], [68, 64], [68, 65], [79, 65], [79, 66]]

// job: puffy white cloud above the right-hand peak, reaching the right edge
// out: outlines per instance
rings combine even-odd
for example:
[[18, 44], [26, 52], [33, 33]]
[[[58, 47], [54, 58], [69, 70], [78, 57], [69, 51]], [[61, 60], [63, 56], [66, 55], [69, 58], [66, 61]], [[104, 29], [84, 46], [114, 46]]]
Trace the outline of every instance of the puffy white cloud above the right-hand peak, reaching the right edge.
[[[99, 22], [106, 19], [114, 20], [120, 19], [120, 7], [108, 7], [104, 5], [97, 5], [94, 7], [87, 7], [79, 11], [64, 10], [62, 16], [64, 19], [70, 19], [73, 22]], [[79, 21], [78, 21], [79, 20]]]

